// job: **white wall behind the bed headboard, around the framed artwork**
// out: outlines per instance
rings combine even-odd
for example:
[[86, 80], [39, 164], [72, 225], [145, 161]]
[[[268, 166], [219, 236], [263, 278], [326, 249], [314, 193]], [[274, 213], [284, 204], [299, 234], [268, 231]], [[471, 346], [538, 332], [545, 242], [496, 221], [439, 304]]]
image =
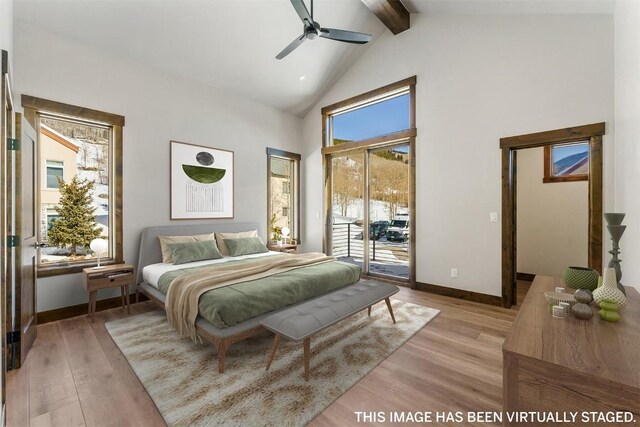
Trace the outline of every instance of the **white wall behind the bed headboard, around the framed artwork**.
[[[16, 94], [126, 118], [125, 261], [135, 264], [142, 228], [171, 223], [169, 140], [235, 151], [235, 221], [258, 221], [266, 230], [265, 147], [299, 151], [300, 119], [21, 21], [16, 21], [14, 28]], [[19, 100], [19, 95], [15, 99]], [[224, 221], [230, 220], [218, 220]], [[193, 221], [197, 222], [207, 221]], [[38, 311], [86, 302], [81, 280], [79, 274], [38, 280]], [[99, 298], [114, 295], [105, 291]]]

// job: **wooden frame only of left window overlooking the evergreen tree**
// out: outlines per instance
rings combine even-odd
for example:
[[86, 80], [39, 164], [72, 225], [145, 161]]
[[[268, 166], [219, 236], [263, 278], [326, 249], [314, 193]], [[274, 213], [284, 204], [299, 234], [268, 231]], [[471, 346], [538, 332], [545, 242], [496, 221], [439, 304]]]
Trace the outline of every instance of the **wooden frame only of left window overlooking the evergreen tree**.
[[[109, 207], [109, 215], [113, 216], [115, 224], [115, 232], [113, 233], [113, 257], [101, 258], [100, 263], [103, 265], [109, 264], [121, 264], [124, 262], [123, 248], [122, 248], [122, 136], [123, 127], [125, 124], [124, 116], [118, 114], [106, 113], [104, 111], [93, 110], [90, 108], [78, 107], [75, 105], [64, 104], [57, 101], [51, 101], [48, 99], [37, 98], [30, 95], [22, 95], [22, 107], [24, 109], [24, 116], [29, 124], [36, 130], [38, 138], [40, 137], [40, 114], [51, 114], [54, 116], [61, 116], [63, 118], [75, 119], [80, 121], [87, 121], [89, 123], [95, 123], [97, 125], [108, 126], [111, 128], [112, 144], [110, 148], [109, 167], [113, 173], [113, 204]], [[39, 145], [39, 142], [38, 142]], [[39, 148], [38, 148], [39, 151]], [[39, 157], [39, 153], [38, 153]], [[40, 171], [40, 165], [38, 167], [38, 175], [42, 173]], [[111, 183], [110, 183], [111, 184]], [[38, 178], [38, 197], [40, 197], [41, 179]], [[37, 203], [40, 208], [40, 201]], [[111, 205], [111, 204], [110, 204]], [[40, 209], [38, 209], [38, 217], [40, 217]], [[40, 223], [40, 218], [38, 220]], [[38, 235], [40, 232], [38, 232]], [[39, 257], [38, 257], [39, 261]], [[38, 263], [37, 273], [38, 278], [60, 276], [65, 274], [74, 274], [82, 272], [82, 269], [87, 267], [93, 267], [97, 265], [97, 261], [86, 260], [77, 262], [65, 262], [60, 264], [51, 263], [40, 264]]]

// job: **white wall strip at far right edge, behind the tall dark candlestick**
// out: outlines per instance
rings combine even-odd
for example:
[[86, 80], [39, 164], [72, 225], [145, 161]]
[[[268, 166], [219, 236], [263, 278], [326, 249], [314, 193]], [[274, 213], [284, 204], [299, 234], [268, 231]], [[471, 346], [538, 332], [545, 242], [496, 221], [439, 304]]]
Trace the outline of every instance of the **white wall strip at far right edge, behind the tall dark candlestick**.
[[[614, 20], [615, 211], [627, 214], [621, 281], [640, 290], [640, 2], [618, 0]], [[607, 249], [610, 244], [606, 239]]]

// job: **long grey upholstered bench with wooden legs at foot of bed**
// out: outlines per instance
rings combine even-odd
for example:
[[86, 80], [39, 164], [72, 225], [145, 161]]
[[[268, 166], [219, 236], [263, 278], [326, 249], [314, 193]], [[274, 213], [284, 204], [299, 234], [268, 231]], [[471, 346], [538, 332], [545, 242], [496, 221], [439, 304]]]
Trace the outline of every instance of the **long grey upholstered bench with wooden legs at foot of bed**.
[[389, 283], [358, 282], [265, 317], [260, 323], [275, 334], [267, 369], [271, 366], [281, 338], [303, 341], [304, 379], [309, 381], [311, 336], [365, 308], [369, 309], [371, 315], [371, 306], [382, 300], [387, 303], [391, 320], [396, 323], [389, 301], [389, 297], [396, 292], [398, 287]]

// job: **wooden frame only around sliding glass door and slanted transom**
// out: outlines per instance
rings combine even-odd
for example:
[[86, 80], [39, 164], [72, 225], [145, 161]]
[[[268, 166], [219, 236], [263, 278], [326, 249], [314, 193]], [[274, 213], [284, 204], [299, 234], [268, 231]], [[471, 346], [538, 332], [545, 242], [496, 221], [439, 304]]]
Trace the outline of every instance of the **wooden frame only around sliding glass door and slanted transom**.
[[[361, 151], [365, 154], [369, 150], [377, 148], [385, 148], [397, 145], [399, 143], [407, 143], [409, 145], [409, 280], [401, 278], [393, 278], [391, 280], [404, 283], [407, 282], [411, 289], [416, 289], [416, 76], [408, 77], [403, 80], [382, 86], [360, 95], [345, 99], [335, 104], [322, 108], [322, 161], [324, 170], [324, 238], [322, 242], [323, 251], [327, 253], [332, 247], [332, 212], [331, 212], [331, 159], [332, 156], [346, 155], [350, 152]], [[331, 125], [330, 120], [333, 114], [343, 113], [379, 101], [399, 93], [407, 91], [409, 93], [409, 129], [387, 134], [379, 135], [361, 141], [354, 141], [348, 144], [331, 145]], [[368, 175], [368, 168], [365, 168], [364, 174]], [[368, 205], [368, 191], [365, 191], [364, 203]], [[369, 212], [364, 210], [365, 222], [369, 222]], [[364, 234], [363, 234], [364, 237]], [[368, 245], [364, 245], [363, 258], [368, 262], [369, 257]], [[371, 274], [372, 277], [381, 277], [390, 279], [390, 276]]]

